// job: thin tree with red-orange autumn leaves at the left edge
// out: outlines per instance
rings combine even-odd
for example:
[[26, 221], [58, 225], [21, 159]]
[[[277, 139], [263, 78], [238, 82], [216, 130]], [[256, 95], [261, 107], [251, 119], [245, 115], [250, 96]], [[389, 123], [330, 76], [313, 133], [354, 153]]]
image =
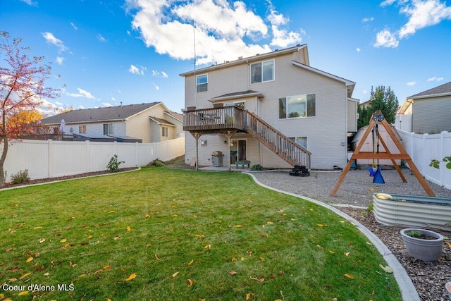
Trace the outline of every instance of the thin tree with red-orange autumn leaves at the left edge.
[[[8, 32], [0, 31], [0, 187], [5, 184], [4, 162], [10, 137], [17, 137], [30, 127], [26, 116], [33, 116], [42, 99], [58, 97], [59, 90], [46, 87], [44, 82], [51, 75], [51, 66], [44, 63], [44, 56], [30, 58], [27, 47], [21, 47], [22, 39], [10, 44]], [[27, 113], [23, 113], [23, 112]]]

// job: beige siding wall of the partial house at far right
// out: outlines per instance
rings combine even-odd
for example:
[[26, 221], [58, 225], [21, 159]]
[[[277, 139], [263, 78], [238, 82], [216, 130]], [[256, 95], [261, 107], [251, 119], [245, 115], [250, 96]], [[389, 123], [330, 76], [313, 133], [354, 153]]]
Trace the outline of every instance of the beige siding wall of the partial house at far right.
[[414, 99], [412, 127], [415, 133], [451, 131], [451, 97]]

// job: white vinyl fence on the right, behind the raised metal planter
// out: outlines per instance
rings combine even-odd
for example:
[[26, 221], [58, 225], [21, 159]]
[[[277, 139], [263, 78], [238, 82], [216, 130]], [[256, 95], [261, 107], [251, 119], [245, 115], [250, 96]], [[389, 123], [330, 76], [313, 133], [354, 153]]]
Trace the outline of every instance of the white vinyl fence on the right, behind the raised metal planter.
[[432, 159], [442, 160], [445, 156], [451, 156], [451, 133], [440, 134], [415, 134], [397, 129], [402, 137], [402, 145], [409, 153], [416, 167], [426, 180], [451, 189], [451, 170], [440, 163], [440, 169], [429, 166]]

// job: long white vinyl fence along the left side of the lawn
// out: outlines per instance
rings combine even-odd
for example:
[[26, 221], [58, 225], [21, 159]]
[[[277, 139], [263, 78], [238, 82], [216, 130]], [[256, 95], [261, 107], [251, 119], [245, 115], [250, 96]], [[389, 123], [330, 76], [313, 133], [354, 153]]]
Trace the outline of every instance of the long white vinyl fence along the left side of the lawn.
[[13, 141], [4, 164], [6, 182], [25, 169], [32, 180], [105, 171], [115, 154], [118, 161], [125, 161], [120, 168], [145, 166], [155, 159], [168, 161], [185, 154], [185, 137], [157, 143]]

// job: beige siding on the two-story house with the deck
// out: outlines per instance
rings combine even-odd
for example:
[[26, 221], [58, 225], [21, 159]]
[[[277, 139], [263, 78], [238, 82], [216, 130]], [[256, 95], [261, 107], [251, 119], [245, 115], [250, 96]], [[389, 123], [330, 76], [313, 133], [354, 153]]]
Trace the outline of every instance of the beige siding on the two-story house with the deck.
[[[197, 93], [194, 97], [194, 76], [185, 78], [185, 106], [209, 108], [213, 105], [209, 99], [226, 93], [254, 90], [264, 94], [257, 101], [257, 115], [288, 137], [307, 137], [308, 149], [312, 152], [312, 168], [345, 167], [347, 162], [347, 87], [345, 82], [334, 80], [292, 63], [292, 54], [275, 59], [275, 80], [250, 84], [249, 66], [223, 68], [209, 72], [207, 92]], [[197, 75], [200, 75], [198, 73]], [[298, 94], [316, 94], [316, 116], [290, 120], [278, 119], [278, 99]], [[249, 103], [250, 104], [250, 103]], [[248, 104], [246, 104], [248, 108]], [[251, 105], [252, 106], [252, 105]], [[249, 109], [249, 111], [251, 111]], [[195, 143], [191, 135], [186, 135], [186, 158], [195, 157]], [[207, 138], [205, 138], [207, 137]], [[211, 138], [213, 137], [213, 138]], [[208, 140], [207, 147], [199, 147], [199, 164], [208, 165], [208, 158], [218, 147], [227, 147], [223, 140], [214, 135], [202, 136]], [[211, 142], [210, 142], [211, 141]], [[248, 140], [252, 158], [257, 157], [264, 167], [290, 167], [276, 154], [251, 137]], [[254, 159], [252, 159], [254, 164]]]

